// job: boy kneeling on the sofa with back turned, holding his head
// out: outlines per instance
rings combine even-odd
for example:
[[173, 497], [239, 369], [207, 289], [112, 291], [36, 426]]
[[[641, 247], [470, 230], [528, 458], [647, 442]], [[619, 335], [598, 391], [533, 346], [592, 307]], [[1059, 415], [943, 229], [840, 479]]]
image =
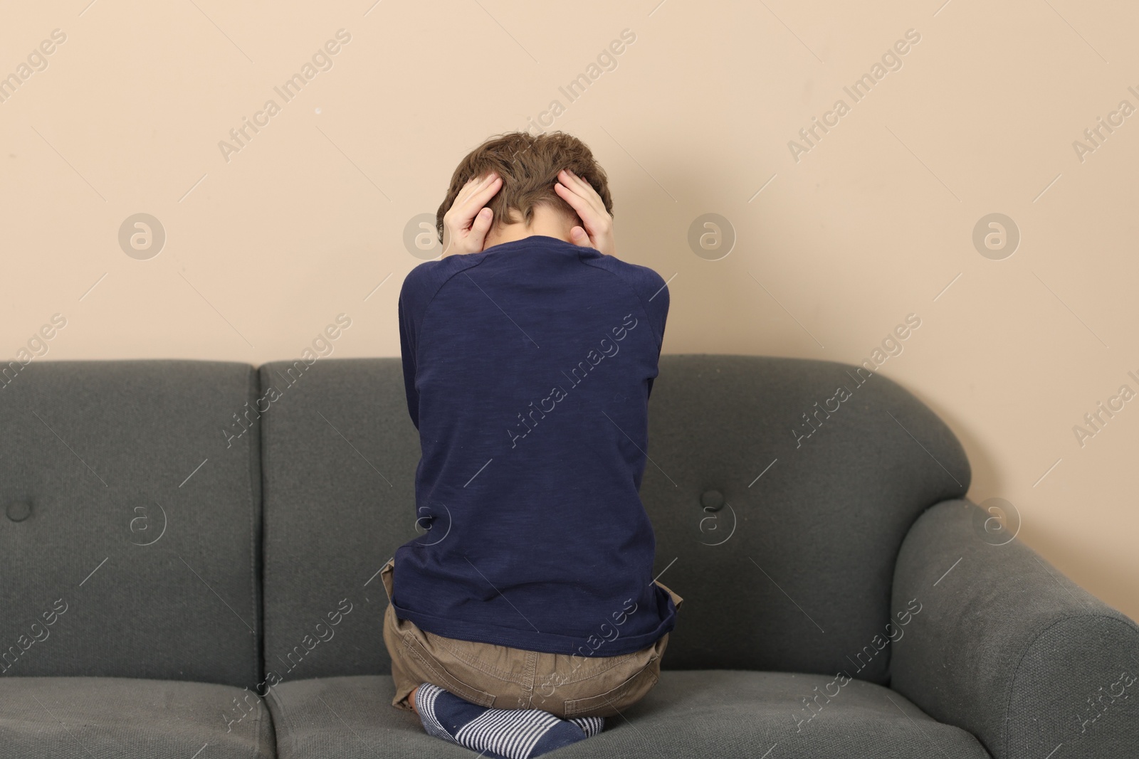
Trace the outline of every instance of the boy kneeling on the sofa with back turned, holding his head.
[[583, 740], [656, 684], [681, 597], [639, 496], [669, 313], [560, 132], [473, 150], [399, 300], [417, 526], [380, 575], [400, 709], [489, 757]]

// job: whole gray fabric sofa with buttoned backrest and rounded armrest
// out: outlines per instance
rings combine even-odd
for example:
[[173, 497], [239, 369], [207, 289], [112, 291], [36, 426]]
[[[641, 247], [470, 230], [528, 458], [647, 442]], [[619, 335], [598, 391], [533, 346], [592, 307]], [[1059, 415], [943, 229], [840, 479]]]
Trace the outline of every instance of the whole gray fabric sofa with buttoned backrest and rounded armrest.
[[[6, 381], [0, 758], [474, 756], [390, 704], [399, 360]], [[985, 539], [960, 444], [895, 382], [666, 355], [649, 439], [685, 607], [650, 694], [556, 756], [1139, 756], [1139, 627]]]

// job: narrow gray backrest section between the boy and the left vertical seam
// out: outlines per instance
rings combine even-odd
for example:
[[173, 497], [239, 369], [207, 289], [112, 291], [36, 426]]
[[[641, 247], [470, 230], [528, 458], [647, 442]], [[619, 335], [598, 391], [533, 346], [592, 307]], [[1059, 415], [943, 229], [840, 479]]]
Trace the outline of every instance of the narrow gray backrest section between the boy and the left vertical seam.
[[[400, 362], [278, 362], [261, 378], [265, 391], [280, 393], [260, 421], [265, 676], [391, 673], [380, 633], [387, 595], [376, 574], [416, 536], [419, 462]], [[328, 614], [344, 600], [352, 610], [333, 626]]]

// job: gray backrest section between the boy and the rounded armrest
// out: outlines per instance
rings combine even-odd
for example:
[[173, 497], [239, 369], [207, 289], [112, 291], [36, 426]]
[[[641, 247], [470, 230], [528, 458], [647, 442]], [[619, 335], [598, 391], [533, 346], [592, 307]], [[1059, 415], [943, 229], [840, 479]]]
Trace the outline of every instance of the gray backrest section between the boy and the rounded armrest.
[[[969, 464], [952, 431], [912, 394], [866, 370], [858, 386], [854, 369], [757, 356], [661, 358], [649, 401], [655, 465], [641, 500], [656, 530], [657, 571], [677, 559], [661, 581], [686, 604], [664, 668], [846, 668], [887, 682], [888, 646], [861, 671], [849, 657], [885, 634], [902, 539], [924, 509], [965, 494]], [[793, 428], [809, 429], [802, 415], [838, 387], [851, 397], [829, 418], [819, 412], [821, 426], [797, 447]], [[704, 511], [710, 489], [731, 509]], [[732, 511], [735, 534], [708, 545], [724, 539]]]

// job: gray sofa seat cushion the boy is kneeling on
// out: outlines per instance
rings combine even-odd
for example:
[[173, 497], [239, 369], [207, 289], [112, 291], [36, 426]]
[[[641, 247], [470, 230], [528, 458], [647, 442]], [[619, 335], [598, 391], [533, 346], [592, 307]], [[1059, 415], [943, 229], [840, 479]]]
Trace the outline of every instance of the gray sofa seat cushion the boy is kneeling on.
[[[802, 703], [834, 682], [823, 675], [664, 670], [661, 682], [603, 733], [560, 749], [572, 757], [767, 757], [768, 759], [988, 759], [973, 735], [934, 721], [890, 688], [850, 680], [820, 710]], [[837, 688], [837, 692], [836, 692]], [[424, 733], [392, 707], [392, 678], [329, 677], [282, 683], [267, 700], [281, 759], [470, 757]], [[814, 713], [813, 719], [809, 719]], [[773, 749], [773, 750], [772, 750]], [[770, 751], [770, 753], [769, 753]]]

